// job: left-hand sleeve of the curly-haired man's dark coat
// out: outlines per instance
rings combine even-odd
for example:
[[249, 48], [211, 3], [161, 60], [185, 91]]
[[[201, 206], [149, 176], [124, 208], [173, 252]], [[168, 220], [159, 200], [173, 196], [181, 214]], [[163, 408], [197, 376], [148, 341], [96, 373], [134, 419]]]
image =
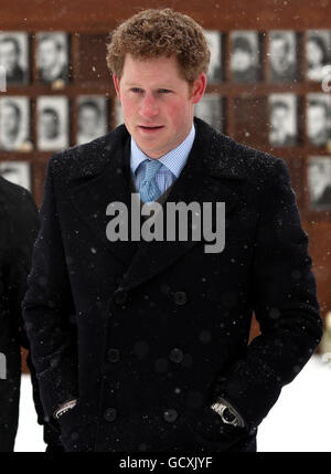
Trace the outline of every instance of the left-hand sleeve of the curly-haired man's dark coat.
[[[56, 159], [56, 155], [52, 158]], [[40, 231], [22, 303], [46, 419], [51, 419], [65, 400], [78, 396], [75, 308], [56, 210], [52, 158], [47, 165]]]

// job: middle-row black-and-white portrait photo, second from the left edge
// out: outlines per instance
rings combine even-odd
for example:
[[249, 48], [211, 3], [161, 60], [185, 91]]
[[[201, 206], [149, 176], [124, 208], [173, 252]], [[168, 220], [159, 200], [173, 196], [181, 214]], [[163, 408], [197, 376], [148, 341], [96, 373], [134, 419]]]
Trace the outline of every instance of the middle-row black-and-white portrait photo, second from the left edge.
[[38, 148], [58, 150], [68, 146], [68, 101], [62, 96], [38, 98]]

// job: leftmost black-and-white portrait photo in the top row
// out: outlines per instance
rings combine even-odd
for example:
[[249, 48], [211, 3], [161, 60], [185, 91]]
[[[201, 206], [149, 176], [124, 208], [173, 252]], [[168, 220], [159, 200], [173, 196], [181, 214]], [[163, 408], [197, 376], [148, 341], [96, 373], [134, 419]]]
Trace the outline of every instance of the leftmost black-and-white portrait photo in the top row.
[[0, 33], [0, 65], [6, 70], [7, 84], [17, 85], [28, 82], [29, 41], [26, 33]]

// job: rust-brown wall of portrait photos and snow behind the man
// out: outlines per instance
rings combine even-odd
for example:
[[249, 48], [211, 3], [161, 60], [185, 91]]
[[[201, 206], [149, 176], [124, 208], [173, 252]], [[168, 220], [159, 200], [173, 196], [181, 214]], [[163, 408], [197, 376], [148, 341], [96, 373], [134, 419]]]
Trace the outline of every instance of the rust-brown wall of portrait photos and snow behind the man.
[[[285, 159], [309, 235], [324, 338], [263, 423], [258, 449], [331, 451], [331, 0], [0, 0], [0, 173], [40, 206], [51, 155], [121, 123], [106, 43], [120, 21], [159, 7], [205, 30], [212, 60], [195, 115]], [[22, 390], [17, 450], [42, 451], [28, 373]]]

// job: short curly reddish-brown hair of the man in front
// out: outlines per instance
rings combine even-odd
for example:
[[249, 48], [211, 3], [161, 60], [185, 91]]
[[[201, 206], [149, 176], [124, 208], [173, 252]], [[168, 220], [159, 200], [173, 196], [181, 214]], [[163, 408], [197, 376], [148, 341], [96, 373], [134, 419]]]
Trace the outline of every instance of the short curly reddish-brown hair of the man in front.
[[211, 59], [202, 27], [171, 8], [143, 10], [110, 33], [107, 65], [118, 78], [127, 53], [139, 60], [174, 55], [182, 77], [190, 85], [200, 73], [206, 74]]

